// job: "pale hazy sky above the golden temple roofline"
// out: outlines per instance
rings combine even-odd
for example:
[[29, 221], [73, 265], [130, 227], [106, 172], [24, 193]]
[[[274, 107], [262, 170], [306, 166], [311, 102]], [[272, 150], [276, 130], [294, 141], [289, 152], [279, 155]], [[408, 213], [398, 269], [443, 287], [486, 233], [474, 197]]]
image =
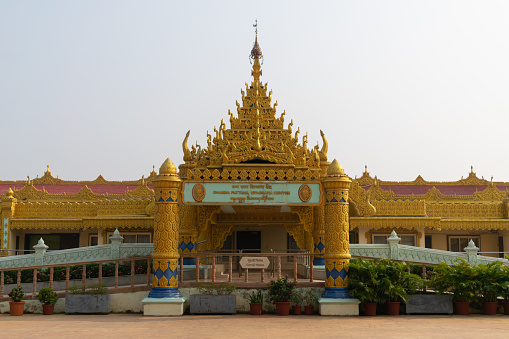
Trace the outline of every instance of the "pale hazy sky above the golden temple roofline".
[[[347, 174], [509, 181], [509, 1], [0, 0], [0, 180], [132, 180], [262, 81]], [[302, 134], [301, 134], [302, 135]]]

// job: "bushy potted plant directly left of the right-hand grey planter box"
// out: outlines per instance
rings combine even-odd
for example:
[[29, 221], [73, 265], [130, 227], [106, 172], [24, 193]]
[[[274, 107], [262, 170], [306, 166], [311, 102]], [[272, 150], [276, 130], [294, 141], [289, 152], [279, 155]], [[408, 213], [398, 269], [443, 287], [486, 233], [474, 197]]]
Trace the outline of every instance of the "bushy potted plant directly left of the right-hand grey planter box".
[[420, 283], [420, 277], [407, 272], [406, 265], [389, 259], [376, 263], [380, 300], [385, 301], [387, 314], [398, 315], [401, 302], [408, 300]]

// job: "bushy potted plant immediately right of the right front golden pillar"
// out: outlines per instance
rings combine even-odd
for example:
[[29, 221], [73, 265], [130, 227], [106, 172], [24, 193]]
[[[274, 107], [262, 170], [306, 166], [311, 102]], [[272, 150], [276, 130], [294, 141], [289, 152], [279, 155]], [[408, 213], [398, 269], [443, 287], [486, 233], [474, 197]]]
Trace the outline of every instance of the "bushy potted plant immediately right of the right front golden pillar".
[[348, 267], [348, 288], [351, 296], [360, 300], [364, 315], [376, 315], [376, 306], [380, 301], [376, 262], [363, 258], [353, 259]]

